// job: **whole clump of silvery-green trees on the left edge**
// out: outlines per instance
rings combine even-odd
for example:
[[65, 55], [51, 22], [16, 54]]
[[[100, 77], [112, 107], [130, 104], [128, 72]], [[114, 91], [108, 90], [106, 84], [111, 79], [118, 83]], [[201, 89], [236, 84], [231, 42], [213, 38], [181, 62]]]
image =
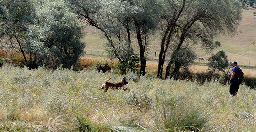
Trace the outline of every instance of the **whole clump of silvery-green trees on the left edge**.
[[62, 0], [1, 1], [0, 42], [21, 52], [30, 68], [76, 68], [85, 47], [84, 24], [76, 19]]

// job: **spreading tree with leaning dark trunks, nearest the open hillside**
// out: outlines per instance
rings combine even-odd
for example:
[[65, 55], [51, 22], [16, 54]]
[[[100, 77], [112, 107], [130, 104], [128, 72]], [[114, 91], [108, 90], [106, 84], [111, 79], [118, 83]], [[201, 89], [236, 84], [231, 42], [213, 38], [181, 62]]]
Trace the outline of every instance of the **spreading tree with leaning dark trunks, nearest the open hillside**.
[[214, 50], [219, 45], [213, 38], [220, 33], [234, 35], [241, 17], [241, 3], [238, 0], [163, 0], [161, 12], [161, 50], [158, 75], [164, 64], [168, 49], [173, 54], [166, 68], [167, 78], [175, 55], [183, 44], [198, 45], [205, 50]]

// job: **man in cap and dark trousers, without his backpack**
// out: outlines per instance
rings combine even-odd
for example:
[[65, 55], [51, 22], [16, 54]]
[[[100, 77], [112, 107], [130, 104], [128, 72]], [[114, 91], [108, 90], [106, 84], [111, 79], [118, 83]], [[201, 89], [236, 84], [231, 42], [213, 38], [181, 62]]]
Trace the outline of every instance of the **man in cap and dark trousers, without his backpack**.
[[228, 82], [230, 84], [229, 92], [231, 95], [235, 96], [240, 85], [240, 81], [238, 80], [239, 67], [237, 66], [237, 61], [233, 61], [230, 64], [233, 66], [233, 68], [230, 80]]

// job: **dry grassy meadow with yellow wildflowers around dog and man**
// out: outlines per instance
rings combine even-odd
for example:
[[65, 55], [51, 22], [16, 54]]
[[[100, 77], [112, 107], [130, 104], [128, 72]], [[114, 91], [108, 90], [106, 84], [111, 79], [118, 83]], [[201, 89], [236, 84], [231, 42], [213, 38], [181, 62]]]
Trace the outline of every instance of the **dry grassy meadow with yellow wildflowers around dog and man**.
[[96, 69], [0, 68], [0, 132], [254, 132], [256, 91], [217, 80], [159, 80], [128, 72], [127, 91], [98, 90], [123, 75]]

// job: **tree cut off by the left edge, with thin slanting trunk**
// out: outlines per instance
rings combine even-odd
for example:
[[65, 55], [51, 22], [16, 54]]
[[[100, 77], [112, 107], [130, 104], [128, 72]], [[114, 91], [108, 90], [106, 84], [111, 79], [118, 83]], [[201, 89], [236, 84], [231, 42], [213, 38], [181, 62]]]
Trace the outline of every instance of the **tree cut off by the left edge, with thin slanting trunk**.
[[0, 1], [0, 42], [21, 52], [25, 63], [27, 26], [35, 16], [32, 0]]

